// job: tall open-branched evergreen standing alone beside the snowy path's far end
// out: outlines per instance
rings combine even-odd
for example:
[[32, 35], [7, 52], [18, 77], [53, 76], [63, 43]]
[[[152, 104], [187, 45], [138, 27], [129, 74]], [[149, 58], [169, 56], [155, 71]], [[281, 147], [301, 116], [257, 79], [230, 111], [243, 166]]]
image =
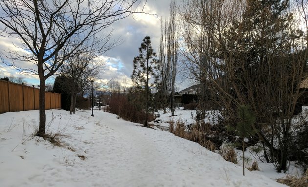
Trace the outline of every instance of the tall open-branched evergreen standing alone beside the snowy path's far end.
[[151, 89], [157, 85], [159, 60], [157, 60], [156, 53], [153, 51], [151, 40], [149, 36], [146, 36], [139, 47], [139, 56], [133, 59], [133, 72], [132, 82], [135, 84], [135, 88], [145, 89], [145, 106], [144, 110], [146, 118], [144, 125], [148, 125], [148, 110], [149, 104], [152, 100], [150, 97]]

